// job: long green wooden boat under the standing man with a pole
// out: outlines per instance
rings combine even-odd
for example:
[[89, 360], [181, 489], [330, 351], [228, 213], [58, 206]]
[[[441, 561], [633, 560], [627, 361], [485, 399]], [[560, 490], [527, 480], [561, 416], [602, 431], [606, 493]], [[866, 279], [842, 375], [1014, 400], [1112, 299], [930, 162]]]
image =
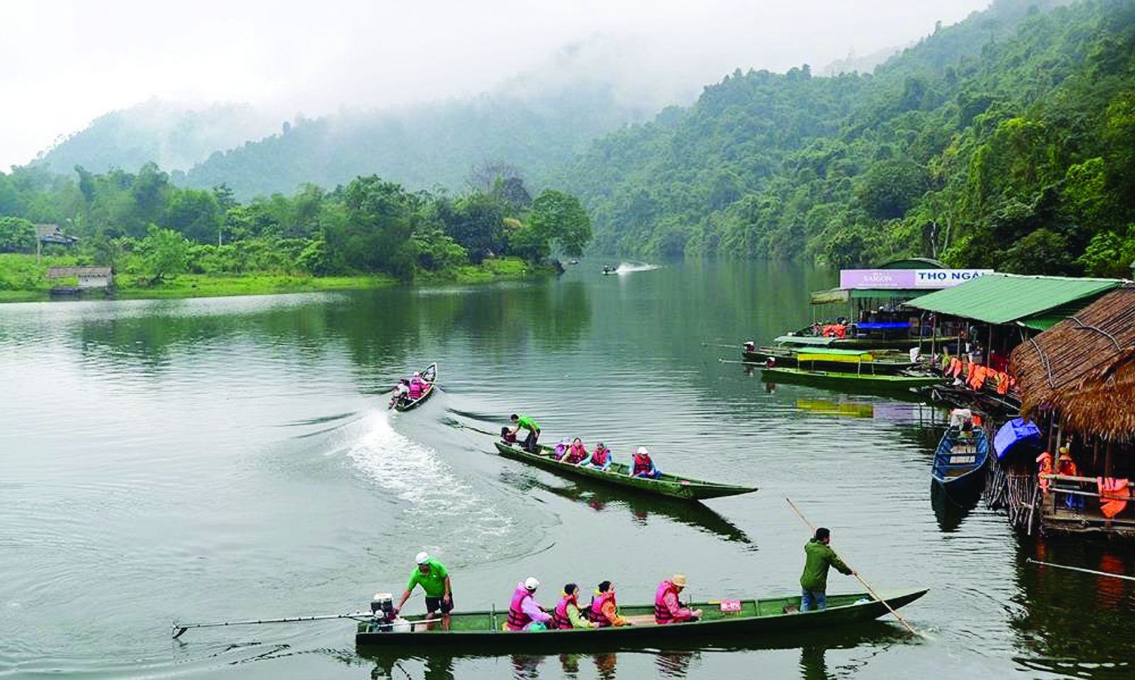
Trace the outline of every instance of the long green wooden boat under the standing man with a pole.
[[[926, 588], [909, 588], [883, 591], [880, 596], [892, 608], [899, 608], [926, 591]], [[690, 603], [691, 608], [703, 610], [701, 620], [667, 626], [654, 622], [654, 605], [621, 606], [631, 626], [572, 630], [504, 631], [502, 624], [507, 612], [495, 607], [487, 612], [455, 612], [449, 630], [440, 630], [437, 623], [419, 623], [424, 620], [423, 615], [406, 616], [409, 624], [396, 628], [362, 621], [355, 632], [355, 645], [371, 649], [472, 649], [502, 654], [641, 649], [644, 646], [670, 648], [675, 645], [698, 648], [740, 638], [756, 640], [773, 636], [810, 636], [817, 630], [861, 624], [888, 613], [882, 602], [866, 593], [829, 595], [827, 608], [819, 612], [798, 612], [799, 596], [741, 599], [739, 604], [739, 611], [726, 612], [722, 611], [726, 607], [721, 601]]]

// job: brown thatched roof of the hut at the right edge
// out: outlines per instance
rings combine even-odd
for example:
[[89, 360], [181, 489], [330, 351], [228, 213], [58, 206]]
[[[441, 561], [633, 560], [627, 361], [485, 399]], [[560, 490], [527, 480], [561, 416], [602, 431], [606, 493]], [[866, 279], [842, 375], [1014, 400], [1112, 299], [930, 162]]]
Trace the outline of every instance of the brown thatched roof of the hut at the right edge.
[[1135, 286], [1108, 293], [1012, 351], [1022, 415], [1053, 409], [1069, 429], [1135, 440]]

